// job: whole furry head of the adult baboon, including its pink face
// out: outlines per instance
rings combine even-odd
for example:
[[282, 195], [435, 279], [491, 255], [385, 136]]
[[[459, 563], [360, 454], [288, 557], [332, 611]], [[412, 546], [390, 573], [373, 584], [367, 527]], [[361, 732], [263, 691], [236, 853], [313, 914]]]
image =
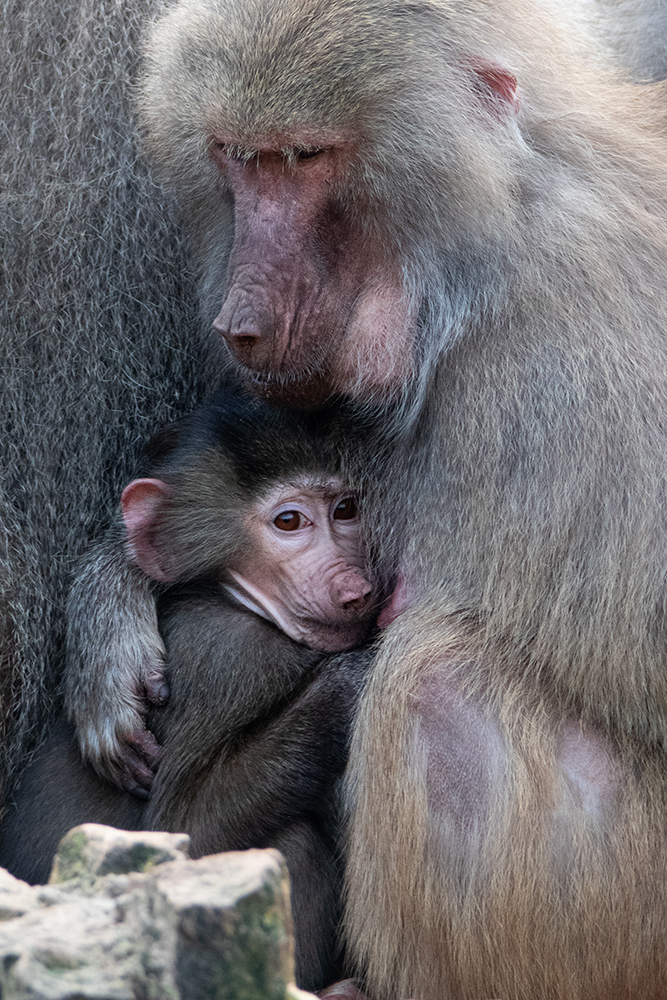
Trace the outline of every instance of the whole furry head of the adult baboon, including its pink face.
[[457, 46], [447, 8], [181, 0], [151, 35], [149, 146], [206, 311], [264, 395], [400, 393], [459, 335], [512, 232], [517, 79]]

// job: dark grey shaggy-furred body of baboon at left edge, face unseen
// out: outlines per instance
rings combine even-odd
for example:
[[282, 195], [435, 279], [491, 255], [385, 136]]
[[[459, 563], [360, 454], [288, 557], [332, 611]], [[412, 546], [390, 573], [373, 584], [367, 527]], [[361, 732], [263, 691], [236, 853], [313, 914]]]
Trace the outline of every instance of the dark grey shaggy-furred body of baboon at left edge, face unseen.
[[3, 5], [0, 772], [49, 714], [73, 559], [142, 440], [218, 379], [132, 124], [140, 25], [158, 6]]

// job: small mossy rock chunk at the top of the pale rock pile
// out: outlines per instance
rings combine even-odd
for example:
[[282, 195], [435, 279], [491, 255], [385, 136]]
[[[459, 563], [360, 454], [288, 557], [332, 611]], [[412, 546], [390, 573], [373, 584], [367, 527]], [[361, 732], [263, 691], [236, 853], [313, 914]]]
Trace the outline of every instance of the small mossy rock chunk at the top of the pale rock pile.
[[83, 823], [70, 830], [58, 845], [49, 885], [72, 878], [148, 872], [155, 865], [188, 857], [186, 833], [141, 833]]

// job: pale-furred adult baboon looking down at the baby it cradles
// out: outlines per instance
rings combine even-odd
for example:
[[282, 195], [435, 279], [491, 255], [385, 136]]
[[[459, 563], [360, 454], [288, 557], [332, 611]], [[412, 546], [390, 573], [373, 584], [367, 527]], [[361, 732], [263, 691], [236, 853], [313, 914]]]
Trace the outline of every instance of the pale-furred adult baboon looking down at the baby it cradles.
[[528, 0], [182, 0], [148, 56], [239, 372], [385, 410], [355, 468], [410, 607], [352, 754], [369, 991], [658, 1000], [664, 91]]

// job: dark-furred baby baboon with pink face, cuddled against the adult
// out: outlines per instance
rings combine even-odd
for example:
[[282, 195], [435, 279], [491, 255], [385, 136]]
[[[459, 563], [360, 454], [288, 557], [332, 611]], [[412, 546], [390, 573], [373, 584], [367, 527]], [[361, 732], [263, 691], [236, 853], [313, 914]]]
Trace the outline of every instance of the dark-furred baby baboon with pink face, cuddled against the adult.
[[[342, 971], [338, 779], [368, 660], [341, 651], [378, 610], [357, 500], [311, 418], [230, 392], [158, 436], [150, 472], [123, 492], [130, 559], [180, 581], [159, 600], [171, 699], [149, 719], [161, 744], [152, 797], [99, 778], [60, 723], [9, 811], [0, 861], [45, 879], [59, 838], [84, 821], [183, 830], [197, 856], [277, 847], [298, 980], [321, 988]], [[88, 579], [101, 626], [104, 581], [97, 568]]]

